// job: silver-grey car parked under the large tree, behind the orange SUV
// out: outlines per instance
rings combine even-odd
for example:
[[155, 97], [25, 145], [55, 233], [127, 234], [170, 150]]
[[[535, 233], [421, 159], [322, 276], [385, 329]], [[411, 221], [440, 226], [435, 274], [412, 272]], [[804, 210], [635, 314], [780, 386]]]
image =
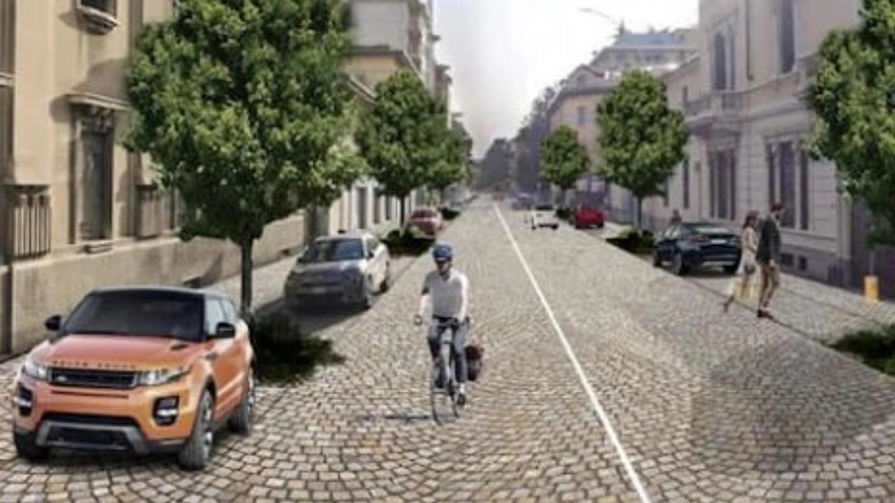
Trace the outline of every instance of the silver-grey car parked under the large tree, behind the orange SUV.
[[325, 302], [371, 306], [374, 294], [388, 290], [388, 248], [370, 233], [319, 237], [298, 258], [286, 278], [290, 307]]

